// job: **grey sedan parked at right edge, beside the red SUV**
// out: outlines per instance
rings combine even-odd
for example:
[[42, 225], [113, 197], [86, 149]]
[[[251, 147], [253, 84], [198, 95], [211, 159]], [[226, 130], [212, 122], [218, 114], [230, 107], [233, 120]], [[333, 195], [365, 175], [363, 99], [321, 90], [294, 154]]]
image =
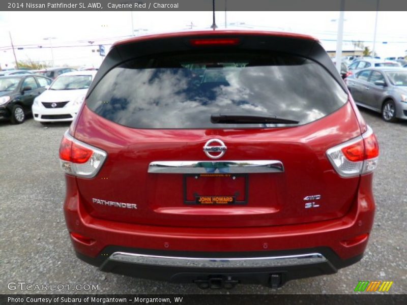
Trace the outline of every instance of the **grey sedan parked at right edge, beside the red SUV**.
[[346, 79], [355, 103], [381, 112], [385, 121], [407, 119], [407, 71], [377, 67], [359, 71]]

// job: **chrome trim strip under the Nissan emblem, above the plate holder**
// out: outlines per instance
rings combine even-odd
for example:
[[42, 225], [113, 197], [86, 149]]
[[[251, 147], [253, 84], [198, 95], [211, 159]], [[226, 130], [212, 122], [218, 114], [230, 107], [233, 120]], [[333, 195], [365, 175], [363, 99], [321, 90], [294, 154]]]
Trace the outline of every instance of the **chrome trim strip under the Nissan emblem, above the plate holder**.
[[154, 161], [149, 173], [209, 174], [209, 173], [282, 173], [284, 166], [277, 160], [242, 161]]

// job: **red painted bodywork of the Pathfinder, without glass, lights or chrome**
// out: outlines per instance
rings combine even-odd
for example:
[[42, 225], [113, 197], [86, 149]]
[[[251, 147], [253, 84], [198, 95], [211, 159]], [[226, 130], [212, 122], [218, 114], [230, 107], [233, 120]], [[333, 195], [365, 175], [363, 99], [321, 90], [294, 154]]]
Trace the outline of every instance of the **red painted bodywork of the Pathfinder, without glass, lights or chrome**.
[[[242, 40], [245, 35], [258, 35], [316, 41], [287, 33], [205, 31], [137, 37], [114, 46], [227, 35], [243, 35]], [[374, 217], [372, 173], [342, 177], [326, 153], [366, 131], [350, 95], [342, 107], [321, 119], [269, 129], [136, 129], [103, 118], [84, 103], [70, 134], [103, 149], [107, 158], [93, 178], [66, 175], [64, 212], [75, 251], [96, 258], [109, 246], [163, 253], [269, 253], [325, 247], [341, 260], [360, 256]], [[205, 206], [185, 204], [184, 175], [148, 173], [149, 164], [157, 160], [211, 161], [202, 146], [213, 138], [227, 145], [221, 161], [281, 160], [284, 172], [239, 177], [230, 188], [239, 189], [237, 200], [246, 204]], [[242, 194], [245, 183], [248, 187]], [[188, 185], [192, 186], [186, 196], [191, 199], [195, 189], [215, 189], [217, 182]], [[217, 192], [213, 195], [222, 194]], [[318, 208], [304, 209], [304, 198], [316, 194], [321, 196]], [[137, 209], [113, 208], [93, 198], [137, 204]]]

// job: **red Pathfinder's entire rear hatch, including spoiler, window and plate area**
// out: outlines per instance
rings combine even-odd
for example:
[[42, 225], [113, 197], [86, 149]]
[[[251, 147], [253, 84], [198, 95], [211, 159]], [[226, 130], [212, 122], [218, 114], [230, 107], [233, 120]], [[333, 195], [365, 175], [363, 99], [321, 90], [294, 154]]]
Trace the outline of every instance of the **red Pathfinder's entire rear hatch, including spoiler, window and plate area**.
[[77, 178], [81, 201], [93, 217], [162, 226], [341, 217], [359, 177], [340, 177], [326, 150], [360, 135], [347, 99], [309, 38], [190, 33], [118, 44], [74, 134], [108, 156], [96, 177]]

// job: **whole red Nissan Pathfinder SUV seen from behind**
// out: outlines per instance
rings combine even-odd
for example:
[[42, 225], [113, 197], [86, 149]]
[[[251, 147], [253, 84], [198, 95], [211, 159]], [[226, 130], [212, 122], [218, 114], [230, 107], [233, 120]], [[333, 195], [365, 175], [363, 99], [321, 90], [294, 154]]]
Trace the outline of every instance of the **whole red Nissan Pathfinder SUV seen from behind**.
[[62, 139], [66, 224], [103, 271], [275, 288], [362, 258], [378, 156], [310, 36], [132, 38], [112, 46]]

